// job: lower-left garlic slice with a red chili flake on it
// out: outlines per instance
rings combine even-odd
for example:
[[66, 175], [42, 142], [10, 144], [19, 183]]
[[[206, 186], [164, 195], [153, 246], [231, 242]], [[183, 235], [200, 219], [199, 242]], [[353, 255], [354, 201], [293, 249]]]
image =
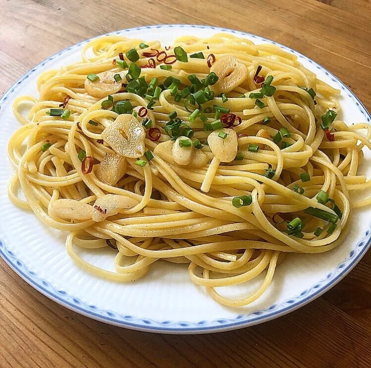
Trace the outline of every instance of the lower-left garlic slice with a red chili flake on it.
[[94, 221], [99, 222], [120, 212], [120, 210], [127, 210], [133, 208], [138, 202], [130, 197], [120, 196], [117, 194], [106, 194], [99, 197], [93, 205]]

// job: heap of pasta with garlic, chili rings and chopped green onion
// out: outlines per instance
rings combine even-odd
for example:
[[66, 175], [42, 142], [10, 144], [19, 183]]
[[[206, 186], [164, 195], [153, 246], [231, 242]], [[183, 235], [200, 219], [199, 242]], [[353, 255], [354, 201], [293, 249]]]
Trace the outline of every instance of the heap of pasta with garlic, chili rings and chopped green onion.
[[[338, 246], [351, 210], [371, 202], [350, 196], [370, 187], [358, 166], [371, 127], [346, 125], [340, 91], [277, 46], [104, 36], [38, 91], [13, 104], [9, 198], [67, 231], [68, 255], [106, 279], [177, 263], [217, 302], [244, 306], [285, 255]], [[103, 247], [115, 271], [80, 255]], [[239, 299], [216, 289], [261, 274]]]

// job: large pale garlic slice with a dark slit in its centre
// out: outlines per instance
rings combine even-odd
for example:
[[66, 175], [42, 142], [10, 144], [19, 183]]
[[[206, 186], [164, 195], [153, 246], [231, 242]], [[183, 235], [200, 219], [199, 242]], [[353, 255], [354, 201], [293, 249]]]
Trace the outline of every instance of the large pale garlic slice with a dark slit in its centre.
[[[123, 136], [125, 135], [125, 137]], [[121, 114], [102, 132], [102, 138], [119, 155], [138, 158], [144, 154], [144, 128], [131, 114]]]

